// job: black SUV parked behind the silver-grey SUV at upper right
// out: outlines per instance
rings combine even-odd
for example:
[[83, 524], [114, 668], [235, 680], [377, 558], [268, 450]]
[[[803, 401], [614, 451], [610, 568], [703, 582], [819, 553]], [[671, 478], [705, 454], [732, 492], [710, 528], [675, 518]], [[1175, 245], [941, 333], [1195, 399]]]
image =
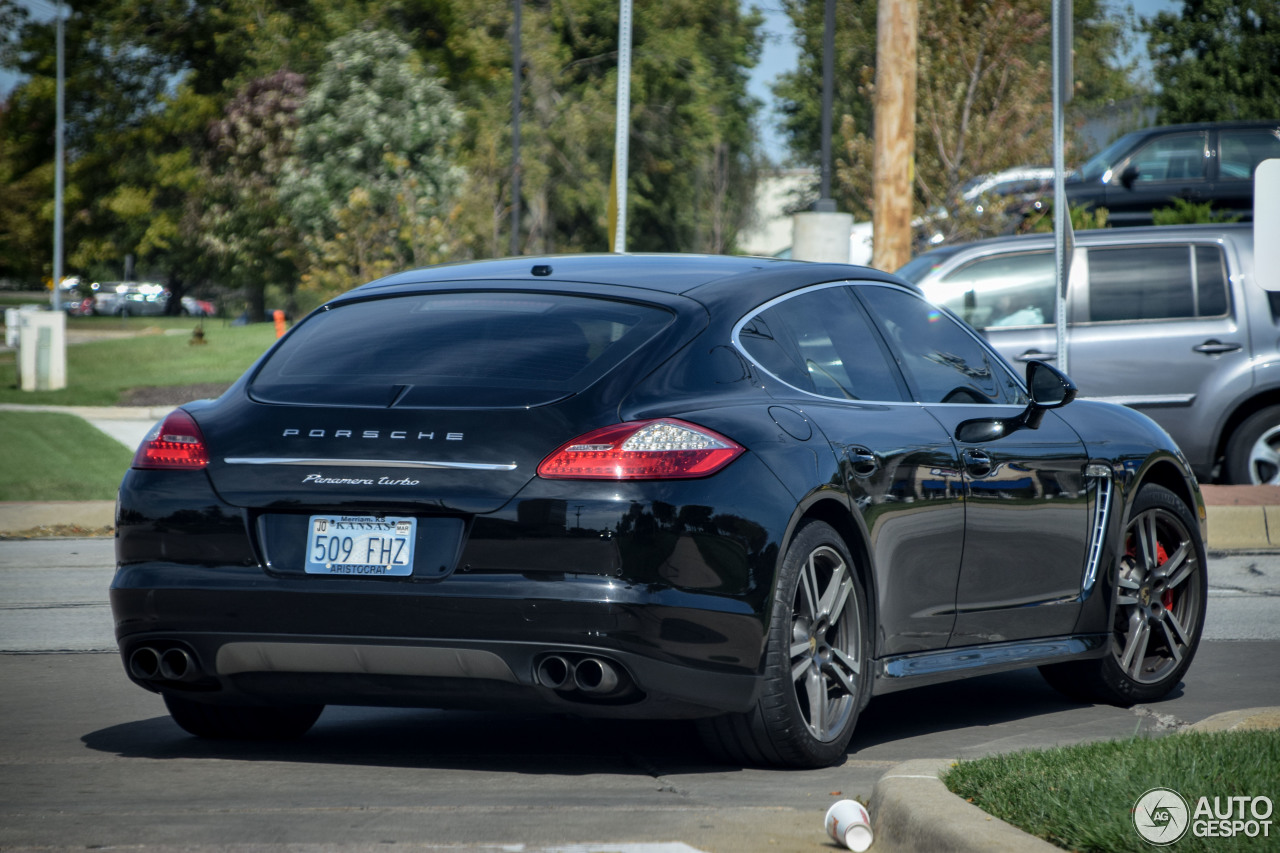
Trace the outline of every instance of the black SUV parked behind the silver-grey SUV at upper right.
[[1280, 158], [1280, 119], [1201, 122], [1126, 133], [1066, 181], [1073, 205], [1106, 207], [1112, 225], [1149, 225], [1175, 199], [1253, 219], [1253, 172]]

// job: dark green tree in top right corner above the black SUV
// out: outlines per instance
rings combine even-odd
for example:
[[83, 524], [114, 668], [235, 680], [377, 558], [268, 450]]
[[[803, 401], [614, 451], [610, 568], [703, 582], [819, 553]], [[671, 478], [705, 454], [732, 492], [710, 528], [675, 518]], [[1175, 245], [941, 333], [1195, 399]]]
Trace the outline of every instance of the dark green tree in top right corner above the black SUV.
[[1280, 3], [1184, 0], [1143, 19], [1162, 123], [1270, 119], [1280, 111]]

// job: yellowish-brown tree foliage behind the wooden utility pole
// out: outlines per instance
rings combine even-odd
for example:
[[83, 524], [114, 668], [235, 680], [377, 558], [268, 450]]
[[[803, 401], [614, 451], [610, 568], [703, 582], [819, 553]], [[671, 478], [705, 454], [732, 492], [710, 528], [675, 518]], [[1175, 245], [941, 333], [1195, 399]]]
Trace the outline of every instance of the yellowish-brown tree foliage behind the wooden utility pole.
[[[790, 150], [818, 165], [822, 1], [787, 0], [801, 44], [801, 70], [783, 76]], [[1074, 4], [1078, 104], [1094, 105], [1133, 92], [1120, 59], [1119, 23], [1105, 0]], [[915, 187], [922, 210], [945, 210], [951, 238], [1004, 227], [1000, 216], [966, 216], [965, 182], [1016, 165], [1042, 164], [1051, 150], [1050, 19], [1034, 0], [938, 0], [920, 4]], [[832, 195], [837, 206], [870, 218], [876, 3], [837, 3], [836, 152]], [[998, 202], [997, 202], [998, 207]], [[988, 214], [991, 210], [988, 209]]]

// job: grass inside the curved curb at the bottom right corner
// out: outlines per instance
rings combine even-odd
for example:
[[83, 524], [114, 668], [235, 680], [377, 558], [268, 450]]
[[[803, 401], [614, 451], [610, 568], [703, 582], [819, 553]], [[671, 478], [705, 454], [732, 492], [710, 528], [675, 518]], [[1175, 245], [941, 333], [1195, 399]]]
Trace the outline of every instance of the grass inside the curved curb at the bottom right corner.
[[1149, 852], [1130, 809], [1152, 788], [1187, 800], [1192, 829], [1167, 849], [1257, 853], [1280, 845], [1280, 809], [1268, 838], [1197, 838], [1201, 797], [1270, 797], [1280, 804], [1280, 731], [1188, 733], [1134, 738], [960, 762], [943, 780], [988, 815], [1070, 850]]

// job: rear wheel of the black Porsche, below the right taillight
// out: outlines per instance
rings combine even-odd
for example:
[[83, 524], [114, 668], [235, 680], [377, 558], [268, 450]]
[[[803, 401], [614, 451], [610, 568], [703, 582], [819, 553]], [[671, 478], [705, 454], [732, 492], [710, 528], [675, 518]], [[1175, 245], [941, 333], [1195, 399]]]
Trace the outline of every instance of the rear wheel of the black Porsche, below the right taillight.
[[782, 560], [755, 708], [699, 721], [719, 758], [826, 767], [849, 749], [870, 695], [867, 596], [844, 539], [805, 523]]

